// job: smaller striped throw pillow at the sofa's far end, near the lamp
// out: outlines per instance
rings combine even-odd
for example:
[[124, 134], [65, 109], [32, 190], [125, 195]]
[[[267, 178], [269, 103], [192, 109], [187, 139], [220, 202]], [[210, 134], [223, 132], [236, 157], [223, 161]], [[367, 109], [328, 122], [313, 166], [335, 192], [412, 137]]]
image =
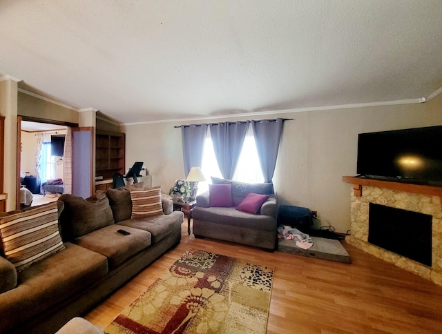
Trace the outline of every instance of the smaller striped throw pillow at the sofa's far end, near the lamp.
[[162, 215], [161, 187], [131, 189], [132, 218]]

